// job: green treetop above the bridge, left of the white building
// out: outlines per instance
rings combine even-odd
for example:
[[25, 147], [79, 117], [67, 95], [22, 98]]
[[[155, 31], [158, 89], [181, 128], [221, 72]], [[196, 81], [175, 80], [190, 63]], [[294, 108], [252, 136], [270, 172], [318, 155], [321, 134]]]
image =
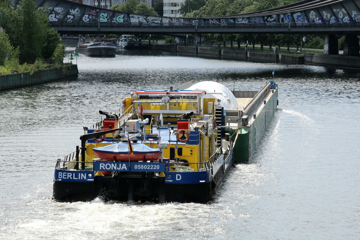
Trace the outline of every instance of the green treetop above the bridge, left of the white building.
[[139, 0], [127, 0], [123, 5], [115, 4], [110, 9], [125, 13], [158, 15], [153, 8], [150, 8], [146, 3], [140, 3]]

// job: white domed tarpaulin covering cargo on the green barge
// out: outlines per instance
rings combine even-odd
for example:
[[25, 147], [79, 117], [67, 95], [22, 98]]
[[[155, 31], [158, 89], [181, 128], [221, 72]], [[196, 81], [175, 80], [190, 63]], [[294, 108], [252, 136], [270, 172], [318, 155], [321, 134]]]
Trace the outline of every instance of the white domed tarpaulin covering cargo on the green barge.
[[[203, 95], [204, 98], [217, 98], [221, 100], [221, 107], [224, 107], [225, 109], [238, 109], [238, 102], [234, 94], [221, 83], [203, 81], [195, 83], [186, 90], [205, 90], [207, 94]], [[212, 92], [222, 92], [222, 94], [211, 94]]]

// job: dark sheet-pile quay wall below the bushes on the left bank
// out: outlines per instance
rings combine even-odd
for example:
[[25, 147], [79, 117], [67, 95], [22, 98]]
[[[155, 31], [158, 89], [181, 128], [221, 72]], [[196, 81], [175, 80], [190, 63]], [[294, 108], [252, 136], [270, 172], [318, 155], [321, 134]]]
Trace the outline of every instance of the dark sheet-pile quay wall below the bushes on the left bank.
[[31, 72], [14, 73], [0, 76], [0, 91], [18, 87], [36, 85], [58, 80], [78, 74], [77, 65], [67, 65], [62, 68], [49, 68]]

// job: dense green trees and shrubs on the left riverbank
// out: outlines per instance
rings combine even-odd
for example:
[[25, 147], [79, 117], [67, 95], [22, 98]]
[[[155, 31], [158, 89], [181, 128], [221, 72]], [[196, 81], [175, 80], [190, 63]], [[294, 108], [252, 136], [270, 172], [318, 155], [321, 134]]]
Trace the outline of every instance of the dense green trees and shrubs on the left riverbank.
[[60, 35], [49, 28], [47, 7], [37, 8], [32, 0], [13, 7], [0, 1], [0, 75], [33, 72], [63, 64], [64, 46]]

